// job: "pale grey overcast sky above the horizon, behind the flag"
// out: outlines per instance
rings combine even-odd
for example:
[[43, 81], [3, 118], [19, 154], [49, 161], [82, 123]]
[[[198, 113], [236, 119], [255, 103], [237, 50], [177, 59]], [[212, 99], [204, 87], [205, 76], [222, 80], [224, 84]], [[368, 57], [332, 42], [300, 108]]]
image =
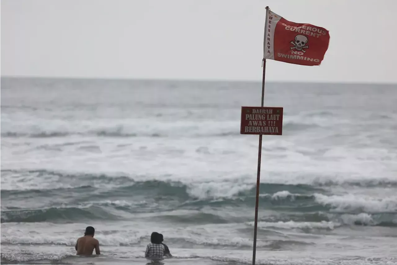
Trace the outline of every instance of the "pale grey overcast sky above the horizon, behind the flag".
[[0, 76], [261, 80], [266, 5], [331, 36], [267, 80], [397, 83], [397, 0], [0, 0]]

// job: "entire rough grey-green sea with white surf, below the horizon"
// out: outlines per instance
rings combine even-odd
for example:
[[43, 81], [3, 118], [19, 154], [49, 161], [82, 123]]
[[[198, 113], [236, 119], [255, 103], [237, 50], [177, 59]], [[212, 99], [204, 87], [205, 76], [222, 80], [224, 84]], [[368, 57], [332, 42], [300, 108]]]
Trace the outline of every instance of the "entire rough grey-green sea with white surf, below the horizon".
[[[261, 84], [0, 79], [0, 263], [252, 264]], [[266, 83], [256, 264], [397, 264], [397, 86]], [[76, 257], [94, 226], [102, 255]]]

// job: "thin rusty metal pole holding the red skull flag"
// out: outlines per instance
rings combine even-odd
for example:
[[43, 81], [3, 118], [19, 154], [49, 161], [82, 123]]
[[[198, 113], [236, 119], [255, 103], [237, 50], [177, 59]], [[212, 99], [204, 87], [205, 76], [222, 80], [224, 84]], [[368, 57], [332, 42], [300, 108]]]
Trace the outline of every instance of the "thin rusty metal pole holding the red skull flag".
[[[266, 40], [266, 24], [268, 18], [269, 7], [266, 6], [266, 23], [264, 32], [264, 42]], [[265, 43], [264, 43], [265, 45]], [[263, 59], [263, 74], [262, 74], [262, 100], [261, 107], [264, 104], [265, 98], [265, 73], [266, 73], [266, 59]], [[252, 250], [252, 265], [255, 265], [256, 258], [256, 234], [258, 232], [258, 205], [259, 205], [259, 186], [260, 186], [260, 162], [262, 159], [262, 134], [259, 134], [259, 146], [258, 146], [258, 171], [256, 173], [256, 200], [255, 200], [255, 223], [254, 223], [254, 247]]]

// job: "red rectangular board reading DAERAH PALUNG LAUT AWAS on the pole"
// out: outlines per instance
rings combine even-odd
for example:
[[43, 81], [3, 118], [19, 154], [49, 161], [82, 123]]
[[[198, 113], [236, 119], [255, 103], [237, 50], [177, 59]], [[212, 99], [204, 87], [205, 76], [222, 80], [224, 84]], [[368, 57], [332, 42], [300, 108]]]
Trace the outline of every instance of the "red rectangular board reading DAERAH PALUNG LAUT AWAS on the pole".
[[283, 133], [283, 108], [241, 107], [240, 134]]

